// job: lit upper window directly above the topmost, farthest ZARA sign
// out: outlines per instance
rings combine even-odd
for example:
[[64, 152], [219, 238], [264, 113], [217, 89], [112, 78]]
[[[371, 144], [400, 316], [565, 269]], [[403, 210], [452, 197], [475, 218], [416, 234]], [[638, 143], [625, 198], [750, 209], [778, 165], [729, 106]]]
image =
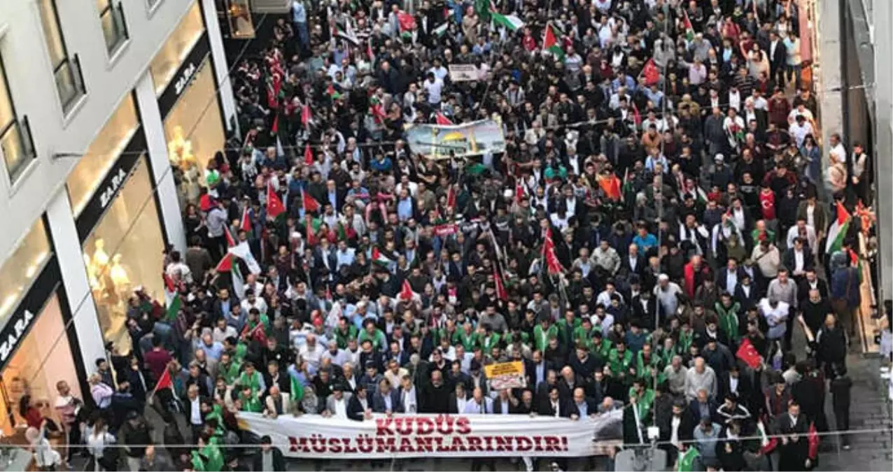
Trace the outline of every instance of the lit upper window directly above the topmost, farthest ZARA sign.
[[171, 83], [171, 79], [177, 73], [179, 64], [192, 51], [192, 46], [204, 33], [204, 21], [202, 10], [198, 3], [192, 5], [186, 16], [179, 21], [177, 29], [171, 33], [171, 37], [162, 46], [162, 50], [155, 55], [149, 70], [152, 72], [152, 81], [155, 86], [155, 95], [162, 95], [164, 89]]

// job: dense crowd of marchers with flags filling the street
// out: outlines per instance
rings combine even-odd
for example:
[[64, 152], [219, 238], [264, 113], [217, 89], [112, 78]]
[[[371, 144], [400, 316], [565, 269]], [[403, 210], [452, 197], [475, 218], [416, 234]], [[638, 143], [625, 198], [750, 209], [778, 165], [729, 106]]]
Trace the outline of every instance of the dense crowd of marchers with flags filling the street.
[[[680, 470], [815, 468], [815, 432], [848, 429], [871, 161], [819, 136], [798, 14], [296, 0], [234, 68], [244, 140], [184, 197], [188, 249], [130, 298], [132, 349], [88, 398], [60, 383], [56, 414], [21, 403], [38, 466], [52, 433], [96, 470], [283, 471], [242, 411], [622, 409], [622, 448], [657, 426]], [[505, 152], [407, 145], [477, 120]], [[526, 387], [491, 388], [512, 360]]]

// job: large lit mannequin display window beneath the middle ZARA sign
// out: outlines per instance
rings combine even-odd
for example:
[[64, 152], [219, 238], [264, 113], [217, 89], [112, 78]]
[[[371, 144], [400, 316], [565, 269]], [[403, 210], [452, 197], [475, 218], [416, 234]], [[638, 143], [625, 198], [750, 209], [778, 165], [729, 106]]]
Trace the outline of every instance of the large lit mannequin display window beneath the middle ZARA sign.
[[140, 286], [153, 299], [163, 299], [164, 250], [146, 156], [140, 158], [121, 192], [83, 244], [84, 263], [104, 341], [119, 352], [131, 343], [125, 322], [128, 301]]

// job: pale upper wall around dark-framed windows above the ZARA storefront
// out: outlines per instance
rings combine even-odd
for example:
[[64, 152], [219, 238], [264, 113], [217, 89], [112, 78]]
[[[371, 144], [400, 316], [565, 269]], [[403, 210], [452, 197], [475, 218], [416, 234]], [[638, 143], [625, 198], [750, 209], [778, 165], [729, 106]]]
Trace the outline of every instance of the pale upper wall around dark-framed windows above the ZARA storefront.
[[[29, 119], [37, 159], [14, 185], [5, 170], [0, 171], [0, 215], [4, 219], [0, 258], [13, 252], [30, 222], [46, 211], [51, 199], [65, 192], [65, 179], [78, 158], [54, 159], [54, 154], [77, 154], [87, 149], [115, 105], [136, 86], [165, 38], [193, 4], [186, 0], [158, 0], [150, 11], [145, 0], [113, 3], [123, 4], [129, 40], [109, 57], [96, 2], [55, 1], [64, 44], [69, 57], [78, 54], [87, 88], [80, 102], [63, 114], [37, 0], [2, 2], [0, 55], [17, 115]], [[82, 261], [80, 266], [83, 267]]]

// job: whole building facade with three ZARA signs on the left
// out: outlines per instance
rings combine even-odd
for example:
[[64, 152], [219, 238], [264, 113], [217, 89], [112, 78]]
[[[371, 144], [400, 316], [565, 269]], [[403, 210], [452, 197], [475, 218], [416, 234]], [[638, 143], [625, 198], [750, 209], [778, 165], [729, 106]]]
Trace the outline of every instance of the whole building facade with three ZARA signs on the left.
[[133, 294], [163, 300], [181, 209], [236, 112], [214, 0], [9, 0], [0, 8], [0, 429], [55, 400]]

